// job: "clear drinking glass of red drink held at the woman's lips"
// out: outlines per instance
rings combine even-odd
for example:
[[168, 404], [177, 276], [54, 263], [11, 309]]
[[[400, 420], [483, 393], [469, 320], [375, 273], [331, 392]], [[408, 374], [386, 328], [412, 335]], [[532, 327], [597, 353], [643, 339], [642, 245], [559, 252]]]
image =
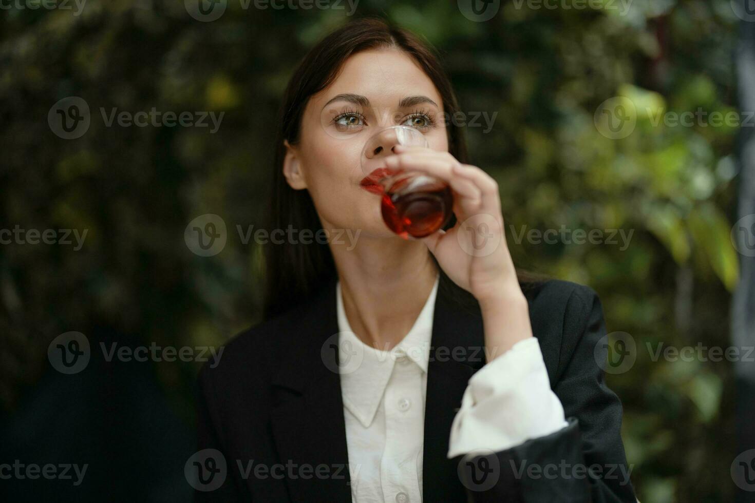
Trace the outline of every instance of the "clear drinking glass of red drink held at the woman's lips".
[[410, 126], [385, 127], [374, 133], [362, 149], [360, 185], [368, 192], [381, 195], [381, 213], [391, 231], [404, 239], [424, 238], [442, 228], [454, 206], [448, 182], [418, 171], [394, 170], [384, 159], [393, 155], [393, 147], [429, 147], [424, 134]]

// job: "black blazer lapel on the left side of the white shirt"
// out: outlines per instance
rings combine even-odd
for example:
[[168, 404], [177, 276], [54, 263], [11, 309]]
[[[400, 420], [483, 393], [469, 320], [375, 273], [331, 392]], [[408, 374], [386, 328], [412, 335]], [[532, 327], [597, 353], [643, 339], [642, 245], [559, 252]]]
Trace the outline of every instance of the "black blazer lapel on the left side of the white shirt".
[[[292, 466], [285, 469], [288, 494], [291, 501], [350, 503], [334, 280], [304, 305], [291, 330], [298, 332], [296, 343], [286, 348], [273, 379], [271, 410], [279, 462]], [[325, 477], [317, 475], [322, 465]]]

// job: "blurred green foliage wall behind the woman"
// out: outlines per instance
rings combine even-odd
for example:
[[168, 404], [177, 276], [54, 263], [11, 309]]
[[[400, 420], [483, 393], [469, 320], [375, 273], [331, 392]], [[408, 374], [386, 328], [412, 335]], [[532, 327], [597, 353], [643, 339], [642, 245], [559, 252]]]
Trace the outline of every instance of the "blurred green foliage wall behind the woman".
[[[183, 2], [90, 0], [82, 13], [11, 9], [0, 18], [2, 227], [88, 229], [82, 250], [0, 251], [3, 408], [45, 369], [69, 330], [113, 330], [162, 345], [222, 344], [260, 318], [257, 228], [272, 166], [279, 99], [300, 58], [347, 21], [343, 10], [258, 10], [229, 1], [214, 22]], [[572, 2], [565, 2], [572, 5]], [[608, 2], [606, 2], [608, 5]], [[735, 17], [728, 0], [634, 0], [609, 8], [517, 8], [485, 23], [457, 2], [359, 2], [439, 49], [465, 112], [471, 161], [501, 186], [507, 236], [523, 268], [589, 284], [609, 332], [639, 349], [609, 384], [625, 407], [624, 442], [641, 501], [729, 501], [732, 369], [652, 360], [646, 348], [726, 347], [738, 264], [729, 241], [737, 127], [669, 126], [658, 113], [735, 109]], [[51, 132], [48, 111], [85, 99], [78, 140]], [[596, 127], [605, 100], [629, 100], [636, 128]], [[106, 127], [99, 109], [225, 112], [220, 130]], [[228, 244], [194, 255], [183, 230], [217, 213]], [[526, 229], [622, 229], [630, 245], [516, 243]], [[196, 366], [159, 378], [193, 415]]]

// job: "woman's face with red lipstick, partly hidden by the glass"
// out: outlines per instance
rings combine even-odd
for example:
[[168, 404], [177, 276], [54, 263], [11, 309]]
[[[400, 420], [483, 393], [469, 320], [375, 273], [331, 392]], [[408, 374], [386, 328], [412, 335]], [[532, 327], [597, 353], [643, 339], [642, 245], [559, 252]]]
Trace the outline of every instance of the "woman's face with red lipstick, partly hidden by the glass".
[[[288, 184], [310, 191], [324, 228], [397, 238], [383, 222], [381, 196], [359, 185], [368, 174], [362, 149], [377, 130], [405, 124], [421, 130], [430, 149], [447, 152], [443, 118], [433, 81], [410, 56], [395, 49], [354, 54], [307, 103], [300, 142], [288, 148], [284, 162]], [[381, 155], [390, 155], [391, 146]]]

